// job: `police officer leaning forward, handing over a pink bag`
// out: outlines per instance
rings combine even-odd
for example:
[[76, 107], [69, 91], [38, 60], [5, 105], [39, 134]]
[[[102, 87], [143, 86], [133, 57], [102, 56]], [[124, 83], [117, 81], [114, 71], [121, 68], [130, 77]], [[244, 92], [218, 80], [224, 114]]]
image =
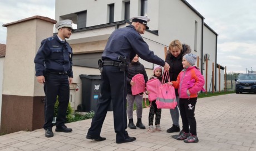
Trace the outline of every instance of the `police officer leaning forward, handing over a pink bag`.
[[[130, 137], [127, 131], [126, 116], [126, 70], [124, 64], [130, 63], [137, 54], [142, 59], [164, 66], [169, 70], [169, 64], [163, 59], [154, 55], [149, 50], [149, 46], [142, 39], [140, 34], [144, 34], [145, 29], [149, 29], [148, 17], [133, 17], [130, 19], [131, 25], [125, 28], [116, 29], [107, 41], [105, 50], [102, 54], [103, 70], [101, 73], [101, 96], [98, 101], [97, 112], [92, 119], [91, 127], [86, 135], [87, 139], [102, 141], [106, 138], [101, 137], [101, 128], [106, 117], [106, 113], [112, 100], [114, 113], [114, 128], [116, 132], [116, 143], [126, 143], [136, 140]], [[127, 61], [127, 62], [126, 62]]]

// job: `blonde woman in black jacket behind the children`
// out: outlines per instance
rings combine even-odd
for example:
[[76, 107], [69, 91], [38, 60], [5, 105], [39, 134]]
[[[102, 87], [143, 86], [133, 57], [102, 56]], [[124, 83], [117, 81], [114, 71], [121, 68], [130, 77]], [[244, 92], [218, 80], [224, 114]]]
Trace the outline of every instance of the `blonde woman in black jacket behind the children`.
[[[166, 63], [170, 65], [170, 81], [176, 81], [181, 70], [183, 70], [182, 58], [185, 54], [191, 53], [189, 45], [181, 44], [180, 40], [173, 40], [169, 45], [169, 51], [166, 55]], [[176, 100], [178, 105], [174, 109], [170, 109], [171, 119], [173, 120], [173, 127], [166, 130], [168, 133], [180, 132], [179, 126], [179, 94], [178, 88], [175, 88]]]

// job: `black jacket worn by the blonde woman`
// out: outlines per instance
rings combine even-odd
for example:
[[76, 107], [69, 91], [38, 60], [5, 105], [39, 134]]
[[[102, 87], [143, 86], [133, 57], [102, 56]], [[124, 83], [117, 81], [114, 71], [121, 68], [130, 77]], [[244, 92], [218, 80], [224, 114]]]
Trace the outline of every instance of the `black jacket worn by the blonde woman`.
[[[189, 54], [191, 53], [191, 49], [189, 45], [183, 44], [183, 50], [181, 51], [180, 55], [175, 57], [173, 56], [170, 51], [168, 51], [167, 55], [166, 55], [166, 63], [168, 63], [170, 65], [170, 70], [169, 70], [169, 74], [170, 74], [170, 81], [176, 81], [177, 77], [180, 73], [180, 71], [183, 70], [183, 65], [182, 65], [182, 58], [185, 54]], [[175, 88], [175, 93], [176, 96], [178, 96], [178, 88]]]

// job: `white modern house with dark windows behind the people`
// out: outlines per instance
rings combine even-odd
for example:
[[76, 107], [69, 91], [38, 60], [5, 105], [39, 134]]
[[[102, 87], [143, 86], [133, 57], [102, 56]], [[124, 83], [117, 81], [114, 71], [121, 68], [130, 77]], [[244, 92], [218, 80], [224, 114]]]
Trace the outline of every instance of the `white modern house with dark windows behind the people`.
[[[142, 37], [157, 56], [165, 59], [165, 47], [169, 46], [170, 41], [179, 39], [189, 44], [192, 53], [198, 56], [197, 65], [204, 77], [208, 76], [205, 89], [210, 90], [212, 81], [218, 86], [218, 34], [204, 23], [203, 15], [185, 0], [56, 0], [55, 19], [71, 19], [76, 27], [67, 41], [73, 48], [73, 81], [78, 87], [82, 87], [80, 74], [100, 74], [97, 60], [101, 58], [107, 39], [115, 29], [129, 25], [129, 19], [137, 15], [146, 15], [151, 19], [148, 22], [150, 29]], [[208, 57], [207, 74], [205, 56]], [[140, 62], [150, 76], [154, 64], [142, 59]], [[76, 93], [75, 107], [80, 103], [81, 91]]]

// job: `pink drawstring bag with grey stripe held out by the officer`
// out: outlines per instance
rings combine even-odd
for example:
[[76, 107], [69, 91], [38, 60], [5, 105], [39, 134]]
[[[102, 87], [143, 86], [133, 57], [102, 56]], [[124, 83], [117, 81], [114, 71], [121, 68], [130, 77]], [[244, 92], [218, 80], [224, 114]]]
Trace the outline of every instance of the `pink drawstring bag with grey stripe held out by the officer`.
[[175, 88], [172, 85], [164, 84], [166, 78], [170, 82], [169, 71], [164, 71], [162, 85], [159, 88], [159, 95], [156, 98], [157, 108], [170, 108], [174, 109], [177, 106]]

